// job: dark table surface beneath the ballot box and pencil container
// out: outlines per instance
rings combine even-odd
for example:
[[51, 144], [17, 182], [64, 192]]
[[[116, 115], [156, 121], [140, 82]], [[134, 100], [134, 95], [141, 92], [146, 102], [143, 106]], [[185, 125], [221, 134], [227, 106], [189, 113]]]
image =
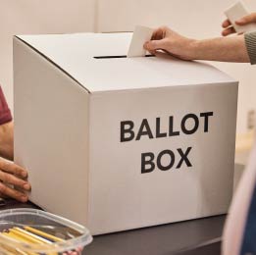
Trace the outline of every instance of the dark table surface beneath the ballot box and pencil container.
[[[0, 209], [36, 208], [32, 203], [7, 201]], [[220, 255], [221, 242], [200, 246], [221, 237], [226, 216], [94, 236], [85, 255]], [[196, 248], [197, 247], [197, 248]]]

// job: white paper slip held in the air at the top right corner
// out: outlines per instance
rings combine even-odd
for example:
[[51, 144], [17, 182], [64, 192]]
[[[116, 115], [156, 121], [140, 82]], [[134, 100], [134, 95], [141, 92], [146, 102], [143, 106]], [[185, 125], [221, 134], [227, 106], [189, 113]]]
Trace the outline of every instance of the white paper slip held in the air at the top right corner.
[[256, 24], [248, 24], [245, 26], [238, 26], [235, 22], [245, 16], [247, 16], [250, 12], [246, 9], [243, 2], [237, 2], [228, 9], [225, 14], [227, 18], [230, 20], [231, 25], [235, 29], [237, 33], [256, 31]]

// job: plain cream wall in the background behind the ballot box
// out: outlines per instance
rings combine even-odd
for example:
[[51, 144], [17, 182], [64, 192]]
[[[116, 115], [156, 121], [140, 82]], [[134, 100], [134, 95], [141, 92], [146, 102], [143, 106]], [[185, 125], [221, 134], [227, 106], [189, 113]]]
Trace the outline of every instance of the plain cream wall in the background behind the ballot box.
[[[12, 35], [77, 31], [124, 31], [135, 25], [168, 25], [187, 36], [219, 36], [223, 12], [236, 0], [0, 0], [0, 83], [12, 94]], [[244, 0], [256, 10], [256, 0]], [[256, 109], [256, 67], [216, 63], [240, 80], [238, 132]]]

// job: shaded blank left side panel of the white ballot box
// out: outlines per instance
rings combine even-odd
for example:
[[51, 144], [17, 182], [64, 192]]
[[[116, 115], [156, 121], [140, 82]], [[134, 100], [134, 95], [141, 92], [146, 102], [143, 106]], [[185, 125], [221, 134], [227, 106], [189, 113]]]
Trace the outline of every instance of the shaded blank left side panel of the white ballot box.
[[89, 94], [14, 39], [15, 162], [28, 170], [30, 200], [86, 224]]

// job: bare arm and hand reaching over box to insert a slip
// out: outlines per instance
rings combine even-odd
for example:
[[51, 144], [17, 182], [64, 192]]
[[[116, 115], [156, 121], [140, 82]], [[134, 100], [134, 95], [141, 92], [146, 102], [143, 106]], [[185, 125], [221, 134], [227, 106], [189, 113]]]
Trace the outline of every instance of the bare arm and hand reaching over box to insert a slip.
[[145, 49], [157, 55], [158, 50], [183, 60], [212, 60], [224, 62], [249, 62], [244, 35], [195, 40], [163, 26], [155, 30]]

